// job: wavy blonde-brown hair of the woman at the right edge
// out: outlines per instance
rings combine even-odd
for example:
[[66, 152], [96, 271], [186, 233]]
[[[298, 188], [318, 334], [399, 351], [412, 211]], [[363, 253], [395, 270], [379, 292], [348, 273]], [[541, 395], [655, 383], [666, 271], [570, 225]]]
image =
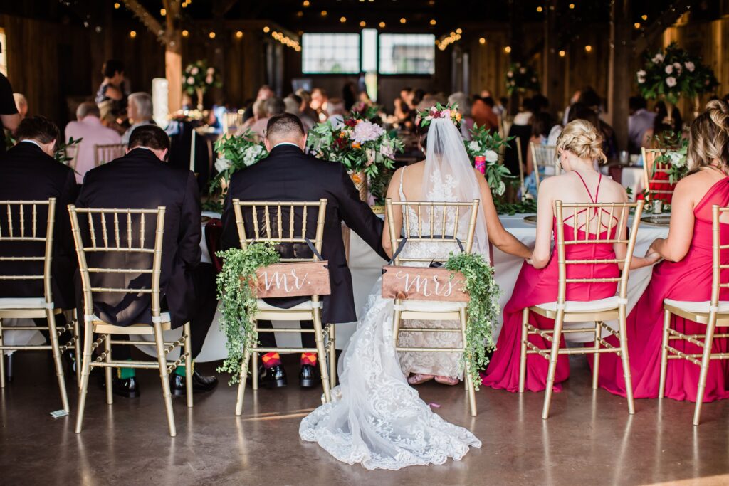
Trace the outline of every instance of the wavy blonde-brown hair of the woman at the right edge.
[[687, 158], [692, 172], [717, 160], [718, 168], [729, 175], [729, 105], [725, 101], [709, 101], [691, 122]]

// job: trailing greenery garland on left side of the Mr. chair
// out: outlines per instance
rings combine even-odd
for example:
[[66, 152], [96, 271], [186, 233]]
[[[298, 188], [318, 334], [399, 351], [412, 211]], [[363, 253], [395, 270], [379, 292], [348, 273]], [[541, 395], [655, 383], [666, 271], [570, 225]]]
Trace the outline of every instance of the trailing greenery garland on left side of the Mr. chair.
[[[256, 281], [256, 270], [278, 263], [280, 256], [273, 243], [252, 243], [245, 250], [231, 248], [218, 251], [223, 267], [217, 276], [218, 299], [221, 299], [222, 313], [220, 330], [225, 333], [227, 358], [218, 372], [230, 373], [229, 385], [238, 383], [241, 363], [255, 342], [258, 334], [254, 330], [253, 317], [258, 310], [255, 287], [241, 285], [241, 277]], [[246, 370], [247, 372], [247, 370]]]

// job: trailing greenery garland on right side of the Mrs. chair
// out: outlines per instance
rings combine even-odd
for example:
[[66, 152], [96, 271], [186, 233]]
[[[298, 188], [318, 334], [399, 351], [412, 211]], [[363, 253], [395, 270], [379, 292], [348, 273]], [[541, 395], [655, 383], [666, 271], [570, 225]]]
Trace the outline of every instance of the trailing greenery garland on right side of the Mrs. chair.
[[478, 390], [481, 384], [479, 372], [488, 365], [488, 351], [494, 349], [493, 324], [499, 317], [499, 297], [502, 292], [494, 280], [494, 267], [481, 254], [451, 254], [445, 268], [461, 272], [466, 278], [464, 291], [471, 297], [468, 302], [468, 326], [466, 327], [466, 352], [461, 358], [461, 367], [468, 363], [471, 380]]

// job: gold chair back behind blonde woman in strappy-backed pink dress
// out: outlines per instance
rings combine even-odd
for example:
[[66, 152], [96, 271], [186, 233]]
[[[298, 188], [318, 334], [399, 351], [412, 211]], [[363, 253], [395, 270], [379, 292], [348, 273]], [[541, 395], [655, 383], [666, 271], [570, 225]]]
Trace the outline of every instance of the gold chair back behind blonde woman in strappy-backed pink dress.
[[[566, 300], [568, 283], [619, 283], [618, 294], [621, 299], [627, 298], [628, 273], [636, 243], [643, 201], [636, 203], [563, 203], [555, 201], [555, 217], [557, 219], [557, 255], [558, 255], [558, 303]], [[628, 216], [634, 210], [634, 220], [628, 232]], [[566, 224], [570, 221], [572, 225]], [[572, 238], [565, 238], [565, 226], [572, 226]], [[584, 238], [580, 238], [580, 231]], [[593, 246], [602, 244], [625, 244], [625, 258], [585, 257], [567, 259], [568, 246]], [[619, 277], [567, 278], [568, 267], [572, 265], [623, 264]]]

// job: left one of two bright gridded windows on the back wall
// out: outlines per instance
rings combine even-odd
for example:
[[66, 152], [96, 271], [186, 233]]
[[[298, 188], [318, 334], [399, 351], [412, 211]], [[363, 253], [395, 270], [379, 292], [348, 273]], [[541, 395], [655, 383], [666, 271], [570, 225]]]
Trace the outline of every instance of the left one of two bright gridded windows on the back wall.
[[303, 34], [301, 71], [359, 73], [359, 34]]

